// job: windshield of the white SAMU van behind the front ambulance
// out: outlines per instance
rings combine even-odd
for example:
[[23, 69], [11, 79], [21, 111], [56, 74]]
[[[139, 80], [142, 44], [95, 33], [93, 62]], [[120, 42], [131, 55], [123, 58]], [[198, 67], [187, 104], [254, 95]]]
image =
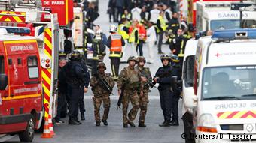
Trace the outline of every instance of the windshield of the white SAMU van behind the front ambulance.
[[[212, 20], [210, 22], [211, 30], [224, 30], [224, 29], [233, 29], [240, 28], [239, 19], [226, 19], [226, 20]], [[242, 20], [242, 28], [255, 28], [256, 20], [248, 19]]]

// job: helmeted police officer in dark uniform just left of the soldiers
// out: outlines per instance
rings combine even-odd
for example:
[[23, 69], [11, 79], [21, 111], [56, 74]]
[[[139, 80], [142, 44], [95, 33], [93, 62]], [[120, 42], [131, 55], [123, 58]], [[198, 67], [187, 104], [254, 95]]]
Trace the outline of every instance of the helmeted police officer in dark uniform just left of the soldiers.
[[78, 50], [72, 52], [71, 61], [66, 67], [67, 82], [71, 87], [70, 105], [69, 105], [69, 124], [81, 124], [78, 121], [78, 105], [84, 100], [84, 93], [90, 81], [87, 67], [81, 64], [81, 54]]

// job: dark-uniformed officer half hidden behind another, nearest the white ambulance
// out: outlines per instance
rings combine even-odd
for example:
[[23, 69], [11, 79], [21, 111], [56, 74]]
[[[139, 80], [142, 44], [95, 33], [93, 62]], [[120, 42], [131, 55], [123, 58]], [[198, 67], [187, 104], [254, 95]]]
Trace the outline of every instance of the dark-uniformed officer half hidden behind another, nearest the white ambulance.
[[[172, 76], [177, 77], [177, 82], [172, 82], [172, 121], [171, 126], [178, 126], [178, 100], [181, 97], [181, 74], [180, 58], [177, 55], [170, 55], [172, 64]], [[175, 84], [175, 85], [174, 85]]]

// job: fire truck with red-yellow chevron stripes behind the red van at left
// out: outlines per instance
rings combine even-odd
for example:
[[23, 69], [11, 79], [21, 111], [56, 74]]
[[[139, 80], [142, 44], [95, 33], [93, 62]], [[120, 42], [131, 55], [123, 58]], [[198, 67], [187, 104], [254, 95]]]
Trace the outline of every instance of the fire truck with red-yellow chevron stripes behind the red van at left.
[[[59, 22], [56, 13], [43, 10], [38, 6], [40, 4], [40, 1], [35, 3], [13, 1], [11, 4], [2, 1], [0, 25], [29, 28], [30, 32], [23, 35], [35, 37], [37, 40], [44, 96], [44, 117], [48, 118], [48, 115], [51, 115], [53, 118], [56, 116], [57, 109], [58, 53], [61, 46]], [[38, 123], [40, 127], [41, 121]]]

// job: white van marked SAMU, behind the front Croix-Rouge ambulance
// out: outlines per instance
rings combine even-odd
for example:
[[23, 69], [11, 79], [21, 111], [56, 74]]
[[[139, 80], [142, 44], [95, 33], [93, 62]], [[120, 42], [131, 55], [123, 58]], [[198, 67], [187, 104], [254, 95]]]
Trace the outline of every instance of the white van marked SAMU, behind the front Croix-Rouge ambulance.
[[[256, 26], [256, 12], [242, 12], [242, 28]], [[239, 10], [230, 10], [230, 1], [197, 2], [197, 31], [240, 28]]]

